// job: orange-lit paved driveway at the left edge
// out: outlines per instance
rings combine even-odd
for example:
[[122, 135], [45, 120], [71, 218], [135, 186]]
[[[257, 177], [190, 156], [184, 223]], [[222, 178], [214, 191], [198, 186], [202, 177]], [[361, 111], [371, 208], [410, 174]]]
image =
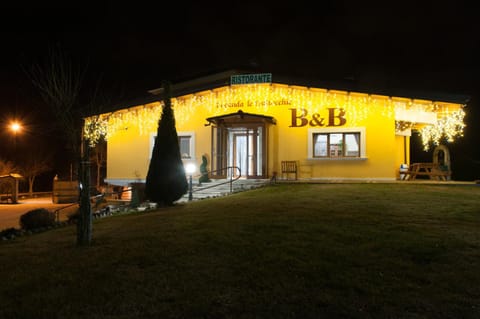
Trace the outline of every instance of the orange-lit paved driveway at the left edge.
[[20, 228], [20, 216], [36, 208], [46, 208], [53, 212], [56, 209], [65, 207], [60, 211], [60, 220], [65, 220], [68, 214], [74, 212], [77, 207], [72, 204], [54, 204], [52, 197], [38, 197], [19, 199], [17, 204], [0, 204], [0, 231], [5, 228]]

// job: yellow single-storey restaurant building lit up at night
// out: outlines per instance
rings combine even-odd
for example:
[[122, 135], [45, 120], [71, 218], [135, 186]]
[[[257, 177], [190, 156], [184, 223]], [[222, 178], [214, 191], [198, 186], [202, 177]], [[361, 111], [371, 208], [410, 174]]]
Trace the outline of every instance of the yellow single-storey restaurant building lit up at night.
[[[282, 178], [282, 161], [295, 161], [299, 180], [393, 181], [410, 162], [412, 129], [425, 144], [463, 130], [459, 101], [308, 87], [268, 73], [225, 72], [171, 92], [182, 158], [198, 167], [205, 155], [211, 178], [229, 166], [243, 178]], [[87, 119], [106, 129], [109, 184], [145, 181], [163, 105], [161, 88], [149, 93]]]

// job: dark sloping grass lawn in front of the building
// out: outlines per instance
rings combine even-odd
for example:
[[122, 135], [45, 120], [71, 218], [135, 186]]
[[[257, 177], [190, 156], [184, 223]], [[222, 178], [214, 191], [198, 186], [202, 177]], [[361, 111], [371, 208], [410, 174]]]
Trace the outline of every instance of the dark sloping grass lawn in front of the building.
[[0, 318], [479, 318], [480, 187], [274, 185], [0, 244]]

